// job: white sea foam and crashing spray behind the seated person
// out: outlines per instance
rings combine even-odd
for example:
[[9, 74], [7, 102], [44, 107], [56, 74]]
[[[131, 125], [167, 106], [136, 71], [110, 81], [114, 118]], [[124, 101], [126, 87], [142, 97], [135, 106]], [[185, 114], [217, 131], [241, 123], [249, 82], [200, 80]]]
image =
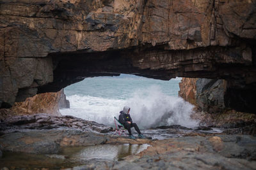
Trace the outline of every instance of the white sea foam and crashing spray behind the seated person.
[[70, 109], [60, 110], [62, 115], [92, 120], [100, 124], [114, 125], [114, 118], [124, 106], [131, 108], [132, 121], [140, 128], [159, 125], [179, 124], [195, 127], [198, 123], [191, 120], [193, 105], [180, 97], [167, 96], [161, 88], [152, 85], [145, 89], [136, 89], [128, 99], [107, 99], [93, 96], [67, 96]]

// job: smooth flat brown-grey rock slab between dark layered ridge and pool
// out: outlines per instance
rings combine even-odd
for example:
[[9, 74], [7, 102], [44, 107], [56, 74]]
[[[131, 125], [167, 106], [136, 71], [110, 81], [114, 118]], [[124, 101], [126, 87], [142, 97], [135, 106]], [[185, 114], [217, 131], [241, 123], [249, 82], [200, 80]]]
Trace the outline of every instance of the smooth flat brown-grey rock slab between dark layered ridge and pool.
[[0, 137], [5, 151], [44, 154], [59, 153], [61, 147], [92, 146], [104, 141], [104, 136], [76, 129], [10, 132]]

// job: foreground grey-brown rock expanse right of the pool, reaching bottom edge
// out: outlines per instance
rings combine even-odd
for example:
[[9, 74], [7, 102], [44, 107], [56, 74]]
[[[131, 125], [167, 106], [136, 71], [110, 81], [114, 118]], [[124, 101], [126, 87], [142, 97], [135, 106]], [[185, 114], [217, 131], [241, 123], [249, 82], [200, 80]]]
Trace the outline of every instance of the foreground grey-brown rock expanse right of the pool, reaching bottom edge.
[[72, 169], [255, 169], [255, 137], [193, 136], [153, 141], [122, 161], [86, 162]]

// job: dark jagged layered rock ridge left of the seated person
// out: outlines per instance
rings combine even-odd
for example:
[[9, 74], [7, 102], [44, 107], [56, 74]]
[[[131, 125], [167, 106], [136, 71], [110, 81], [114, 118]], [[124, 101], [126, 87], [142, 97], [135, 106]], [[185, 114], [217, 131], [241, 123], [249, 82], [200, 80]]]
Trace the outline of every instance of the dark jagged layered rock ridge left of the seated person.
[[80, 131], [112, 132], [113, 128], [72, 116], [57, 117], [45, 113], [6, 118], [0, 123], [0, 132], [22, 131], [22, 129], [58, 129], [73, 127]]

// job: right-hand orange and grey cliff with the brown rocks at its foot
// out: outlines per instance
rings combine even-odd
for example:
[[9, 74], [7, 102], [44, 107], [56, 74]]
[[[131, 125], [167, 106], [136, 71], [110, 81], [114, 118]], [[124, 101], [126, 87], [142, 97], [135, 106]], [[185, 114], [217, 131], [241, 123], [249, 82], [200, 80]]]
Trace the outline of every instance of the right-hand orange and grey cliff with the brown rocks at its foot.
[[[206, 78], [182, 78], [179, 96], [196, 106], [192, 118], [201, 125], [239, 128], [234, 132], [255, 135], [256, 115], [228, 108], [227, 81]], [[229, 133], [232, 133], [230, 131]]]

